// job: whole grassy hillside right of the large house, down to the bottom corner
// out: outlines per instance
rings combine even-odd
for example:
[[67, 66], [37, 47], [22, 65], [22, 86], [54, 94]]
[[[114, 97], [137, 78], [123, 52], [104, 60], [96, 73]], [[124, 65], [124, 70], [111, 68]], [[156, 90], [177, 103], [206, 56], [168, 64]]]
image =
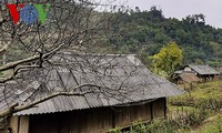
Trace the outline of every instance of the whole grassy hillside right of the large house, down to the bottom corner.
[[169, 100], [169, 115], [179, 114], [181, 119], [181, 112], [185, 114], [182, 117], [186, 121], [186, 130], [182, 127], [181, 132], [220, 133], [222, 131], [221, 82], [218, 80], [195, 84], [193, 90], [188, 90], [188, 94]]

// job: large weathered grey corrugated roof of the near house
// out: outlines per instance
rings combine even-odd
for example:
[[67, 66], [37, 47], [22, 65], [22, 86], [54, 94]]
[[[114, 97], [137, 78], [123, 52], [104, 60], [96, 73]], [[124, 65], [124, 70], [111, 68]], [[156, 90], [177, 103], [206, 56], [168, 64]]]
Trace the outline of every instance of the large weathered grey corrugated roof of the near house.
[[[13, 82], [0, 84], [0, 110], [13, 102], [26, 104], [56, 91], [71, 90], [91, 83], [109, 89], [84, 86], [83, 96], [60, 95], [16, 115], [64, 112], [99, 106], [113, 106], [182, 94], [184, 91], [151, 73], [135, 57], [77, 55], [60, 53], [51, 60], [57, 65], [22, 72]], [[120, 88], [121, 86], [121, 88]], [[3, 93], [4, 92], [4, 93]]]

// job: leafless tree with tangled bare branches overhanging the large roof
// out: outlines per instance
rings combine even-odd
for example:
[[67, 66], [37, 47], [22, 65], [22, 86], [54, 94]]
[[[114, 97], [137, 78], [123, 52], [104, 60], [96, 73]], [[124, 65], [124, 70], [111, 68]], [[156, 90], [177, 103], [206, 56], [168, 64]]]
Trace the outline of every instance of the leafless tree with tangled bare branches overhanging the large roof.
[[[97, 61], [89, 60], [89, 57], [79, 58], [75, 62], [69, 61], [69, 58], [62, 59], [62, 57], [60, 57], [58, 59], [58, 57], [54, 57], [57, 53], [63, 51], [71, 51], [77, 54], [89, 54], [98, 51], [105, 52], [105, 49], [101, 49], [101, 45], [104, 42], [103, 40], [114, 35], [109, 30], [111, 23], [114, 22], [117, 18], [113, 17], [111, 12], [101, 11], [101, 4], [97, 1], [34, 1], [34, 4], [50, 4], [50, 10], [44, 23], [41, 20], [26, 23], [21, 19], [18, 22], [13, 22], [7, 7], [9, 3], [14, 3], [18, 12], [21, 13], [21, 4], [33, 4], [33, 1], [1, 1], [0, 55], [2, 57], [2, 62], [0, 64], [0, 89], [2, 92], [7, 92], [7, 89], [12, 89], [13, 91], [22, 90], [22, 88], [27, 89], [29, 84], [38, 86], [41, 82], [47, 80], [48, 73], [53, 71], [54, 68], [57, 68], [57, 71], [60, 66], [65, 66], [68, 70], [73, 70], [74, 68], [83, 70], [82, 65], [88, 64], [88, 68], [91, 68], [91, 72], [99, 72], [98, 68], [105, 65], [103, 66], [104, 74], [108, 73], [111, 65], [113, 66], [111, 63], [103, 64], [102, 62], [98, 63]], [[42, 9], [47, 11], [47, 7]], [[67, 63], [62, 64], [62, 62], [58, 60], [67, 61]], [[38, 81], [38, 83], [36, 81]], [[11, 82], [17, 85], [12, 85]], [[11, 86], [9, 88], [7, 85]], [[121, 85], [122, 84], [119, 84], [119, 88]], [[77, 91], [78, 89], [84, 89], [87, 86], [94, 88], [94, 90]], [[72, 89], [68, 89], [65, 85], [63, 85], [62, 90], [58, 91], [57, 89], [57, 86], [51, 86], [51, 89], [46, 92], [44, 96], [38, 96], [38, 92], [42, 90], [32, 89], [32, 93], [26, 98], [27, 100], [31, 96], [34, 98], [32, 101], [27, 102], [24, 100], [26, 104], [19, 102], [13, 104], [9, 103], [6, 110], [0, 110], [0, 117], [7, 120], [7, 117], [10, 117], [16, 112], [32, 108], [38, 103], [58, 95], [84, 95], [98, 91], [102, 92], [107, 89], [111, 90], [111, 88], [102, 83], [95, 84], [94, 82], [82, 82], [75, 84]], [[113, 96], [112, 94], [110, 95]]]

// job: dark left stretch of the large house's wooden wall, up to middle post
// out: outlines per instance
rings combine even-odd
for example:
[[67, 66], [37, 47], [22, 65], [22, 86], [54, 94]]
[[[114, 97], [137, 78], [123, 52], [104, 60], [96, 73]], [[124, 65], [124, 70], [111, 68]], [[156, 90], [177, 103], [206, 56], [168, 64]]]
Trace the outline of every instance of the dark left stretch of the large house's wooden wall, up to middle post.
[[109, 108], [31, 116], [30, 133], [100, 133], [112, 129]]

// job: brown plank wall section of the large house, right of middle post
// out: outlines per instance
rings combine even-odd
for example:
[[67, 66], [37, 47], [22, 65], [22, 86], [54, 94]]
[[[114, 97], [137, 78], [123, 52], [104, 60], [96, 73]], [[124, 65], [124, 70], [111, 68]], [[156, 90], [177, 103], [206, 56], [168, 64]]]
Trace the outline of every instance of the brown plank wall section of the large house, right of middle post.
[[148, 122], [165, 116], [165, 99], [158, 99], [143, 105], [115, 108], [115, 127], [129, 127], [133, 122]]

